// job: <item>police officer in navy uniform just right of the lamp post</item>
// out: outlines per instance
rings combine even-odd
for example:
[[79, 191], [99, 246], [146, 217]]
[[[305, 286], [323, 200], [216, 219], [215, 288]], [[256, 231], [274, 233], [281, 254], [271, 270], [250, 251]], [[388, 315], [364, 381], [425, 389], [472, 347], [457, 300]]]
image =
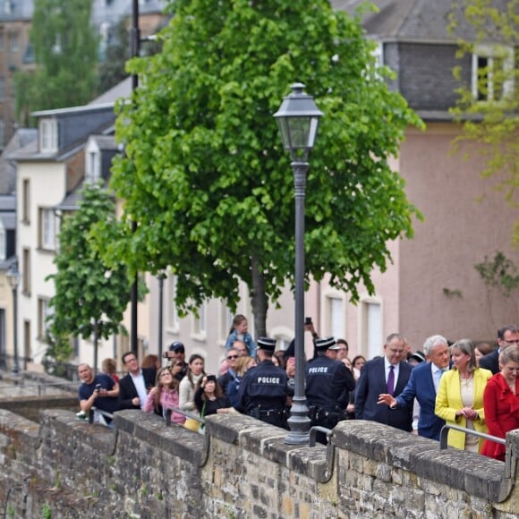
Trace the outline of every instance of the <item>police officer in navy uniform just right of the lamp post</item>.
[[[311, 426], [333, 429], [346, 419], [345, 409], [350, 391], [355, 388], [353, 374], [344, 362], [336, 361], [339, 346], [334, 337], [314, 341], [317, 356], [306, 364], [306, 398]], [[326, 435], [318, 432], [317, 440], [326, 443]]]

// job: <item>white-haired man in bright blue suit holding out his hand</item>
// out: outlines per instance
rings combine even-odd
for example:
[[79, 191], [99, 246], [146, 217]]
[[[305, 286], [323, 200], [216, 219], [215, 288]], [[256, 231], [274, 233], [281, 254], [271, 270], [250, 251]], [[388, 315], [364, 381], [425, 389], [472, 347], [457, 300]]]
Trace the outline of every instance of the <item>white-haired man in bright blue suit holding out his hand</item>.
[[420, 404], [418, 434], [424, 438], [439, 440], [439, 432], [445, 421], [434, 413], [439, 379], [448, 370], [450, 353], [444, 336], [430, 336], [423, 344], [423, 352], [428, 362], [416, 366], [404, 391], [399, 396], [383, 393], [379, 404], [387, 404], [392, 410], [413, 404], [414, 398]]

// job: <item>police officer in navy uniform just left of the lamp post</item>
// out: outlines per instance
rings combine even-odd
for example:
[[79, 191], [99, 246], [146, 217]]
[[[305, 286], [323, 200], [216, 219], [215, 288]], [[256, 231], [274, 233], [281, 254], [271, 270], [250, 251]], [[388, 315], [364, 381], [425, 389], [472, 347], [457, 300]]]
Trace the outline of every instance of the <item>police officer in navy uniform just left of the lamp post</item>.
[[245, 373], [235, 405], [241, 413], [286, 429], [287, 376], [272, 362], [276, 340], [259, 337], [259, 364]]

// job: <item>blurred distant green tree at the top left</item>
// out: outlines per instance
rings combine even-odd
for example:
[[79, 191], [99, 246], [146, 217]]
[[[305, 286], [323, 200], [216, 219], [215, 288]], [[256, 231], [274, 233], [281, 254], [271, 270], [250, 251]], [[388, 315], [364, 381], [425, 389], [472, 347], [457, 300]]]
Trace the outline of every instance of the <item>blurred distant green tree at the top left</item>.
[[30, 43], [36, 71], [20, 72], [15, 80], [21, 123], [34, 110], [80, 106], [94, 98], [98, 37], [90, 10], [84, 0], [35, 0]]

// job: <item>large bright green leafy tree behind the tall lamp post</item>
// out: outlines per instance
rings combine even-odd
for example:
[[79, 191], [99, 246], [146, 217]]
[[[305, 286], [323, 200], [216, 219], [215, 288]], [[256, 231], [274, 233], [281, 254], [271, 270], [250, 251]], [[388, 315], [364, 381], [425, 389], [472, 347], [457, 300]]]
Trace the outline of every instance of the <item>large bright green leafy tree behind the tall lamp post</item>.
[[[105, 256], [132, 271], [169, 267], [176, 303], [239, 300], [255, 328], [294, 282], [294, 177], [273, 114], [302, 81], [325, 116], [307, 184], [306, 277], [357, 301], [385, 270], [387, 242], [413, 235], [417, 210], [388, 164], [421, 121], [387, 89], [360, 21], [325, 0], [175, 0], [163, 51], [132, 61], [141, 86], [121, 104], [125, 155], [113, 169], [124, 200]], [[132, 230], [132, 222], [136, 229]]]

